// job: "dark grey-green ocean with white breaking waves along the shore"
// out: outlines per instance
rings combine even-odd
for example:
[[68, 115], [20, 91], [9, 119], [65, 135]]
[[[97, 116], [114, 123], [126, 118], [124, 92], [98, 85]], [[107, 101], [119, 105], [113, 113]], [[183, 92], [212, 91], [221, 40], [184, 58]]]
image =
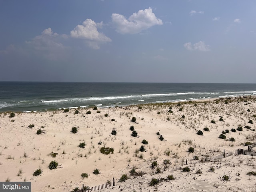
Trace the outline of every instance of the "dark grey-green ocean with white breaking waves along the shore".
[[0, 112], [114, 107], [256, 95], [256, 84], [0, 82]]

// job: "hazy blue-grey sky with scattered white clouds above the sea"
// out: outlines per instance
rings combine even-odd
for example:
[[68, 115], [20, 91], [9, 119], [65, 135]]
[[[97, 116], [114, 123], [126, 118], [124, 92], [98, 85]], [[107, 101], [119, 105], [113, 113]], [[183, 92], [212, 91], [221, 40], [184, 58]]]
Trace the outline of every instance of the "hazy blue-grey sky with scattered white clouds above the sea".
[[256, 83], [255, 0], [0, 0], [0, 81]]

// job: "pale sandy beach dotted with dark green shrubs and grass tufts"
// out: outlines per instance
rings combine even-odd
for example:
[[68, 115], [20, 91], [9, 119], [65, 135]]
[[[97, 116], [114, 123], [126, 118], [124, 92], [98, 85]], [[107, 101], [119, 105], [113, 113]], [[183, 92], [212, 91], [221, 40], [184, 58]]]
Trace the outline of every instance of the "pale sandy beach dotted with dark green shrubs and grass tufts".
[[[2, 113], [0, 180], [32, 182], [32, 192], [69, 192], [113, 178], [116, 186], [97, 191], [255, 192], [256, 156], [237, 154], [256, 142], [255, 123], [253, 96], [15, 113], [12, 118]], [[102, 147], [114, 153], [102, 154]], [[224, 150], [225, 158], [207, 160]], [[49, 169], [51, 161], [58, 162], [56, 169]], [[42, 173], [33, 176], [38, 169]], [[128, 179], [120, 182], [124, 174]], [[152, 178], [158, 184], [150, 186]]]

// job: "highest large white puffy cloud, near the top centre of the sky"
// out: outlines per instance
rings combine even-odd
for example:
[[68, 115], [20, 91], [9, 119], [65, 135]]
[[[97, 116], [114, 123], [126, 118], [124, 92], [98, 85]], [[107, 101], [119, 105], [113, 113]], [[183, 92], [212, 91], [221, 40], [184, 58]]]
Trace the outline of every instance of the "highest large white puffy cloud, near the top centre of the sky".
[[139, 10], [138, 13], [132, 14], [128, 19], [117, 13], [113, 13], [111, 18], [116, 32], [120, 34], [136, 34], [154, 25], [163, 24], [162, 20], [155, 16], [151, 8]]

